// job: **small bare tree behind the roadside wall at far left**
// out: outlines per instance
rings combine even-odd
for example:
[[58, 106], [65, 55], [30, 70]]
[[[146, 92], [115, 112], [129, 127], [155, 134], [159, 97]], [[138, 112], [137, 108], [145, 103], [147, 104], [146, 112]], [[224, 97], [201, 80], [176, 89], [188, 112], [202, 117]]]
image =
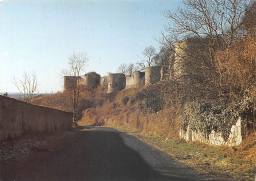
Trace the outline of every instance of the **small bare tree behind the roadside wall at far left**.
[[14, 85], [18, 91], [22, 94], [23, 100], [31, 102], [32, 96], [38, 91], [38, 77], [35, 73], [30, 77], [26, 72], [23, 75], [23, 78], [19, 81], [14, 79]]

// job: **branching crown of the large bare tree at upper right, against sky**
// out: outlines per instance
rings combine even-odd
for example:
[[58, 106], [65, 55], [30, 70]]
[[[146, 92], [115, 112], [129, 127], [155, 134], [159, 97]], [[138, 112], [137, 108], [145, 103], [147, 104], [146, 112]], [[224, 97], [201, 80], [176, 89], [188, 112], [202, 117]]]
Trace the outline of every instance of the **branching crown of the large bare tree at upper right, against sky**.
[[179, 38], [195, 36], [212, 39], [209, 46], [219, 48], [230, 45], [236, 37], [249, 0], [184, 0], [184, 8], [177, 13], [170, 10], [166, 17], [172, 23], [167, 31]]

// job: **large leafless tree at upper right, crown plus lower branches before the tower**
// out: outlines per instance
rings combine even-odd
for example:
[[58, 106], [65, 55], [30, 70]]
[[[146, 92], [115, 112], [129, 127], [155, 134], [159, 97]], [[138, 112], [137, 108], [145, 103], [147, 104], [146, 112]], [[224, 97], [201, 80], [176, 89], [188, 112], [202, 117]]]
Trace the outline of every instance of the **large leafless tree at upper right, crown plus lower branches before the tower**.
[[[208, 84], [220, 88], [218, 80], [223, 73], [218, 67], [216, 53], [231, 47], [244, 33], [240, 25], [249, 0], [183, 0], [183, 4], [177, 12], [165, 12], [170, 22], [163, 42], [168, 42], [169, 37], [175, 37], [176, 42], [189, 42], [190, 47], [184, 47], [184, 51], [190, 57], [185, 72], [193, 79], [191, 85]], [[172, 42], [170, 40], [170, 45]], [[179, 56], [177, 52], [176, 55]]]

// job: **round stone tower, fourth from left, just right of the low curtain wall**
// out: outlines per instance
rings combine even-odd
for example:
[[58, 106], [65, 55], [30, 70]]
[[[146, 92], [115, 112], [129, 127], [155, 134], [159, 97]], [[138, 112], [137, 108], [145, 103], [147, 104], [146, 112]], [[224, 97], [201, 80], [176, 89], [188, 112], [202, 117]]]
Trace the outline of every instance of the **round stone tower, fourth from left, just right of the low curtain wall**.
[[145, 85], [156, 83], [161, 78], [161, 66], [146, 67], [145, 69]]

